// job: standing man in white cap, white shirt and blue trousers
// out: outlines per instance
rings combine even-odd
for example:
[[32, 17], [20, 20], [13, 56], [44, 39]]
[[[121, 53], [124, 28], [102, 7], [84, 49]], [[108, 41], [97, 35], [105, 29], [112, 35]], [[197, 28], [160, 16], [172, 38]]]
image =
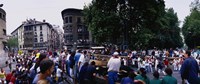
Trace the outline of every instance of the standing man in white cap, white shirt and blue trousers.
[[108, 61], [108, 82], [109, 84], [115, 84], [118, 79], [117, 73], [121, 66], [121, 59], [118, 52], [114, 52], [113, 56]]

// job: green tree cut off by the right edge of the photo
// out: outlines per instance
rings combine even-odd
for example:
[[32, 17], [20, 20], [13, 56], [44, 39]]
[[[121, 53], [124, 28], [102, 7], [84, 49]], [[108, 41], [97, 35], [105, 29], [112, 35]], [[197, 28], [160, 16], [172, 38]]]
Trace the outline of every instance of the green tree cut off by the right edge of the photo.
[[183, 23], [183, 35], [185, 43], [189, 48], [196, 48], [200, 46], [200, 3], [195, 0], [191, 3], [191, 13], [188, 15]]

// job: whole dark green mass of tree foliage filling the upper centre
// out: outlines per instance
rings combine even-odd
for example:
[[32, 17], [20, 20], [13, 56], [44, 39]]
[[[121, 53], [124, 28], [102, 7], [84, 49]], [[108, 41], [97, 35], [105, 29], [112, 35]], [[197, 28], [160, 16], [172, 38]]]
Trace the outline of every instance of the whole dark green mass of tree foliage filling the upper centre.
[[183, 44], [177, 14], [165, 11], [164, 0], [93, 0], [83, 12], [98, 44], [128, 44], [131, 49]]

